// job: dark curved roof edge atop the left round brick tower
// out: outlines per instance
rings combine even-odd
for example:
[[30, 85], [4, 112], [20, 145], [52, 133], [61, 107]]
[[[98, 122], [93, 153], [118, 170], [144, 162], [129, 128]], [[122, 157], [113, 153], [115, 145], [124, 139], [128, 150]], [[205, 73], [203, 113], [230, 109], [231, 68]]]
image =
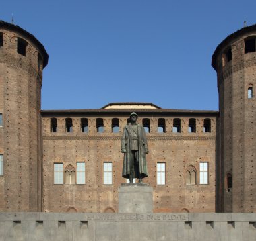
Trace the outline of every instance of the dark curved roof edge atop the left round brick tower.
[[6, 21], [1, 21], [0, 20], [0, 27], [20, 32], [20, 33], [24, 34], [27, 38], [32, 40], [32, 42], [34, 42], [34, 44], [36, 44], [36, 46], [38, 46], [39, 50], [43, 54], [43, 59], [44, 59], [43, 67], [45, 67], [48, 64], [49, 55], [47, 54], [44, 46], [38, 41], [38, 39], [33, 34], [30, 34], [26, 30], [24, 30], [23, 28], [20, 28], [20, 26], [18, 26], [18, 25], [15, 25], [15, 24], [12, 24], [12, 23], [7, 23]]

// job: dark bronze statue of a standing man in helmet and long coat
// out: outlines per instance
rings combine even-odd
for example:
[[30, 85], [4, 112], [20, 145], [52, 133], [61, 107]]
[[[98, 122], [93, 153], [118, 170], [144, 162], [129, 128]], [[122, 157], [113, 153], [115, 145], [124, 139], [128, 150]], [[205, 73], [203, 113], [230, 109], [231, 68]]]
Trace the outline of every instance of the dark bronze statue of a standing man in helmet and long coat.
[[133, 178], [142, 183], [144, 177], [148, 177], [146, 165], [146, 154], [148, 154], [148, 143], [146, 133], [140, 124], [137, 124], [137, 114], [131, 113], [131, 123], [123, 128], [121, 152], [124, 153], [122, 177], [133, 183]]

